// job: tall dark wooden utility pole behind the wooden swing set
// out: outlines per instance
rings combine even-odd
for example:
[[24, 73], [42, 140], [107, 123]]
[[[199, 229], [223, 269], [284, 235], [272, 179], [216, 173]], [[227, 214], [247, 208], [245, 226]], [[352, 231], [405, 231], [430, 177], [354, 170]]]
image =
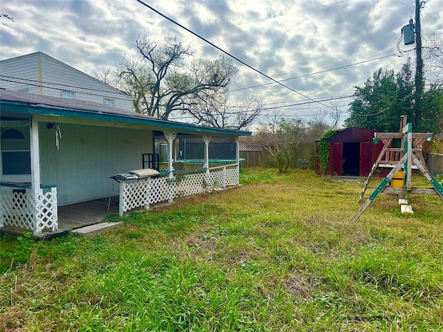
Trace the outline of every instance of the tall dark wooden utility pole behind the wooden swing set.
[[422, 118], [422, 95], [424, 91], [423, 82], [423, 59], [422, 59], [422, 28], [420, 26], [420, 7], [422, 6], [420, 0], [415, 0], [415, 39], [417, 44], [415, 47], [415, 107], [414, 107], [414, 122], [417, 128]]

